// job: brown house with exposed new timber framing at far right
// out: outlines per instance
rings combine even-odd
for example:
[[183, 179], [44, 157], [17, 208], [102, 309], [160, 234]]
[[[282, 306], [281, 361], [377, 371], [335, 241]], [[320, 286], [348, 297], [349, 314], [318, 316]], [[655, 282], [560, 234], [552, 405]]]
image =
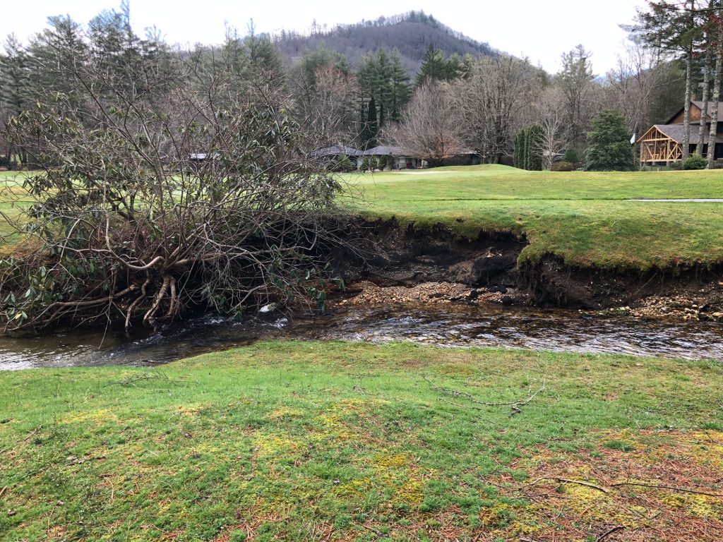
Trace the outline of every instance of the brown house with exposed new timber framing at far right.
[[[701, 117], [703, 116], [703, 102], [697, 100], [690, 101], [690, 147], [692, 154], [696, 152], [698, 145], [703, 145], [701, 154], [708, 155], [709, 132], [711, 129], [711, 103], [708, 103], [708, 113], [705, 122], [705, 131], [703, 133], [703, 141], [698, 141], [699, 129], [701, 126]], [[641, 165], [669, 165], [683, 158], [683, 139], [685, 139], [685, 129], [683, 126], [684, 110], [680, 109], [675, 115], [670, 117], [665, 124], [654, 124], [639, 139], [640, 145], [640, 163]], [[716, 137], [713, 142], [713, 158], [718, 160], [723, 158], [723, 102], [718, 103], [718, 118], [716, 122]]]

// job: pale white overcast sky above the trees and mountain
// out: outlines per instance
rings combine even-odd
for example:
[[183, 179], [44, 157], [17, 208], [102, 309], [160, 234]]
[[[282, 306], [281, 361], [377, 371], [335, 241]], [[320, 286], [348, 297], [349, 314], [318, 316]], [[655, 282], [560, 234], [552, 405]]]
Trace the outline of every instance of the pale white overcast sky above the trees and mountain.
[[[103, 9], [117, 8], [120, 0], [9, 1], [0, 10], [0, 35], [15, 33], [23, 40], [46, 26], [49, 15], [69, 14], [87, 23]], [[6, 4], [3, 1], [3, 4]], [[549, 72], [560, 68], [560, 53], [582, 43], [592, 51], [596, 74], [615, 65], [625, 32], [642, 0], [130, 0], [131, 22], [137, 33], [155, 25], [171, 43], [219, 43], [226, 23], [242, 33], [250, 19], [257, 33], [309, 30], [314, 20], [333, 27], [338, 23], [374, 20], [411, 9], [423, 9], [445, 25], [490, 46], [527, 56]]]

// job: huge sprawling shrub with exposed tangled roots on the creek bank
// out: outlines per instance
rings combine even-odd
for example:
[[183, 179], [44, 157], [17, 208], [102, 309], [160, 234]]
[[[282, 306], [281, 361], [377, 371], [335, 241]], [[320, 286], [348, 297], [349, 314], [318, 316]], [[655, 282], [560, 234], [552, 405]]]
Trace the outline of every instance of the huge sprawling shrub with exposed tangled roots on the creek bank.
[[30, 205], [2, 215], [23, 238], [0, 260], [6, 327], [322, 303], [340, 185], [301, 152], [283, 91], [222, 66], [176, 59], [168, 77], [105, 59], [78, 57], [72, 96], [48, 93], [5, 131], [43, 168]]

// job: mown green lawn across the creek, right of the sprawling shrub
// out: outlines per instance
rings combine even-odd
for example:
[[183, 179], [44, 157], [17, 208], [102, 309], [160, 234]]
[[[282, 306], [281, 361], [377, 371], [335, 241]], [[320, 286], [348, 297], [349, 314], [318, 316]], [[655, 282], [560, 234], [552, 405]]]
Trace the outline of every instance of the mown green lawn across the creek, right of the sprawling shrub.
[[349, 176], [369, 218], [395, 217], [459, 236], [526, 234], [521, 259], [556, 254], [583, 267], [723, 261], [723, 203], [626, 199], [723, 197], [723, 171], [521, 171], [503, 165]]

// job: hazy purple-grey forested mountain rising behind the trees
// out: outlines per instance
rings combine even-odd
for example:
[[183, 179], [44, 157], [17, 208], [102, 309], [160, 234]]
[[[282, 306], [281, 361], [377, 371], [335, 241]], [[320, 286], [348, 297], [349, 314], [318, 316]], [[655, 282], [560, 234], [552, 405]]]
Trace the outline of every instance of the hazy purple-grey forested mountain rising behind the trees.
[[424, 12], [408, 12], [394, 17], [380, 17], [375, 21], [363, 21], [356, 25], [339, 25], [333, 30], [313, 27], [309, 35], [281, 31], [275, 36], [275, 45], [284, 59], [298, 59], [306, 51], [320, 46], [337, 51], [356, 67], [367, 51], [377, 48], [397, 48], [403, 66], [416, 74], [422, 65], [424, 53], [434, 46], [446, 56], [457, 53], [465, 55], [494, 55], [495, 50], [487, 43], [480, 43], [455, 32]]

